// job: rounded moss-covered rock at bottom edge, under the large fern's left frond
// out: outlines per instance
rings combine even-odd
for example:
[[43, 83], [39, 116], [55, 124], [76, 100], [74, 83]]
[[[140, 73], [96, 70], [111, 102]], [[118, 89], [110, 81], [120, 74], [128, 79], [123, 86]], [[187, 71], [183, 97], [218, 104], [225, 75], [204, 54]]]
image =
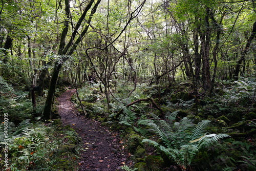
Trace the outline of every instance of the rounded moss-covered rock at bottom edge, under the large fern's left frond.
[[161, 156], [149, 155], [145, 158], [146, 170], [162, 171], [164, 161]]

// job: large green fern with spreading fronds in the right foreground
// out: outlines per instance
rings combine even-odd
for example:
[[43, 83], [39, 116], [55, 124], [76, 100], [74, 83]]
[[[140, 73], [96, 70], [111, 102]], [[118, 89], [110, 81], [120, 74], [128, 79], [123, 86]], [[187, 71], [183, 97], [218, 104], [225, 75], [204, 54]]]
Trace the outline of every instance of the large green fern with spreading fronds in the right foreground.
[[183, 170], [186, 170], [200, 149], [217, 143], [220, 139], [230, 137], [226, 134], [207, 135], [206, 127], [210, 125], [208, 120], [201, 121], [196, 126], [187, 118], [175, 122], [177, 113], [178, 111], [168, 114], [166, 120], [147, 119], [140, 121], [139, 124], [150, 126], [150, 130], [159, 136], [163, 145], [150, 139], [144, 139], [142, 142], [150, 143], [160, 149]]

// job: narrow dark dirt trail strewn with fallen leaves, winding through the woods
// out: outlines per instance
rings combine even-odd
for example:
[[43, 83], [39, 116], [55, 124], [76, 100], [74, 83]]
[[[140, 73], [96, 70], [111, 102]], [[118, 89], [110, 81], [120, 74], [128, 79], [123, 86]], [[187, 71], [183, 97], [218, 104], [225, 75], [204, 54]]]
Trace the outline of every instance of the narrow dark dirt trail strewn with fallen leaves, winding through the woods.
[[74, 104], [70, 101], [75, 90], [67, 90], [57, 98], [58, 110], [64, 124], [69, 124], [82, 139], [81, 157], [78, 171], [122, 170], [121, 166], [128, 164], [128, 153], [120, 143], [117, 132], [101, 126], [100, 122], [78, 115]]

